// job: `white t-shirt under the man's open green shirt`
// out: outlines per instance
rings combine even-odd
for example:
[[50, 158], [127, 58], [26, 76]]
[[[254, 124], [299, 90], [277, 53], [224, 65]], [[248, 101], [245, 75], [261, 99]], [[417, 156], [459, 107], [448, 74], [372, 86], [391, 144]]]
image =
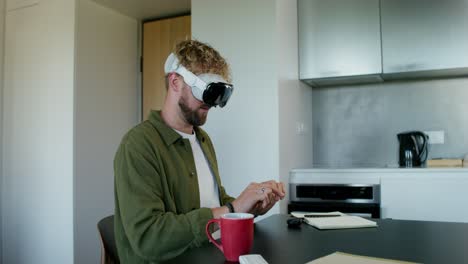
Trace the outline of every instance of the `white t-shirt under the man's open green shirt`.
[[195, 167], [198, 175], [198, 186], [200, 189], [200, 207], [219, 207], [218, 184], [195, 133], [186, 134], [178, 130], [175, 131], [183, 138], [188, 139], [190, 141], [190, 146], [192, 147], [193, 158], [195, 160]]

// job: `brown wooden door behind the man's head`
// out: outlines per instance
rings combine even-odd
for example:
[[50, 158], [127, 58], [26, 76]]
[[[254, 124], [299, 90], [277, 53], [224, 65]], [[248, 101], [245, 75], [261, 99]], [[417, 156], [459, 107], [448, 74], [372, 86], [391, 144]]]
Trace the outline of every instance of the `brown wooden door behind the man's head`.
[[190, 16], [143, 24], [143, 119], [160, 110], [166, 97], [164, 63], [175, 45], [191, 36]]

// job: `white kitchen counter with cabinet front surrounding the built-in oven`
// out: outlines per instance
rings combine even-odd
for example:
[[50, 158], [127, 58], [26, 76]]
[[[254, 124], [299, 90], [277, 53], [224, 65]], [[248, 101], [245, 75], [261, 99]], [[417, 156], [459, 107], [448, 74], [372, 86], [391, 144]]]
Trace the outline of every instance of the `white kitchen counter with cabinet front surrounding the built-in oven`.
[[379, 185], [383, 218], [468, 223], [468, 168], [293, 169], [289, 190], [302, 184]]

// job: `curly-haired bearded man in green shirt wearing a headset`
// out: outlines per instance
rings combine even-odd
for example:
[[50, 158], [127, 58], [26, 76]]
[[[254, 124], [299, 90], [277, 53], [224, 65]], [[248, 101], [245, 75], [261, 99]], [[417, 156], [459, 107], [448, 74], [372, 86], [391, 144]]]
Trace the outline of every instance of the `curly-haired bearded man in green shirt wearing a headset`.
[[122, 263], [154, 263], [207, 241], [205, 225], [229, 212], [266, 213], [285, 195], [282, 183], [251, 183], [236, 199], [221, 185], [202, 126], [226, 105], [229, 66], [207, 44], [179, 43], [166, 64], [161, 111], [131, 129], [114, 160], [115, 237]]

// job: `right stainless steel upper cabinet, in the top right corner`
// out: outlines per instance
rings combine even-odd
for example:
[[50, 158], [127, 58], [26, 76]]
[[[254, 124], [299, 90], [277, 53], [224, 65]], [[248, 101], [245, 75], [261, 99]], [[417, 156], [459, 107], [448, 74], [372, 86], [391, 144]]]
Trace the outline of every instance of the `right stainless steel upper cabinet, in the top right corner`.
[[468, 0], [382, 0], [381, 16], [384, 78], [466, 73]]

